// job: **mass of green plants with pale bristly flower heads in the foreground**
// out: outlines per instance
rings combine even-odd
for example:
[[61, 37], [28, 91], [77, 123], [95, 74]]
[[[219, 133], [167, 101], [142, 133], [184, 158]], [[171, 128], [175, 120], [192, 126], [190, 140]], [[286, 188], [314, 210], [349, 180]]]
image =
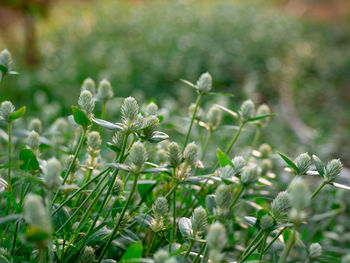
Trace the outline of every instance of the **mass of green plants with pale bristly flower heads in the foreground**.
[[[6, 50], [0, 65], [1, 79], [17, 74]], [[128, 97], [107, 120], [107, 80], [85, 80], [72, 115], [45, 129], [2, 102], [1, 262], [349, 262], [340, 160], [292, 160], [260, 142], [267, 105], [203, 114], [211, 75], [183, 82], [197, 93], [187, 118]]]

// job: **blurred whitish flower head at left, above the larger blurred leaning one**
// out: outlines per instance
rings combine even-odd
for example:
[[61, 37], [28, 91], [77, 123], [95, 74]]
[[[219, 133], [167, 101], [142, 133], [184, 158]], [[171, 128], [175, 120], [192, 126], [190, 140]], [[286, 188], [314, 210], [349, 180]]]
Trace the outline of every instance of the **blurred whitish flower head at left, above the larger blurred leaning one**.
[[56, 158], [47, 161], [43, 172], [43, 180], [49, 189], [53, 190], [60, 186], [61, 170], [61, 163]]

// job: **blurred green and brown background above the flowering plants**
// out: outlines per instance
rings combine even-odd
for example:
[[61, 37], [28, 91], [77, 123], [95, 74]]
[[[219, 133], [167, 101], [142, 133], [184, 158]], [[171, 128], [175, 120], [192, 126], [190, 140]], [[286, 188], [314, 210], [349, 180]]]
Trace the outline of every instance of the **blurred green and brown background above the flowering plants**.
[[21, 76], [0, 98], [50, 123], [70, 114], [85, 78], [107, 78], [117, 96], [186, 115], [195, 94], [180, 78], [208, 71], [215, 91], [235, 95], [208, 100], [271, 106], [263, 136], [277, 149], [350, 166], [349, 14], [342, 0], [2, 0], [0, 48]]

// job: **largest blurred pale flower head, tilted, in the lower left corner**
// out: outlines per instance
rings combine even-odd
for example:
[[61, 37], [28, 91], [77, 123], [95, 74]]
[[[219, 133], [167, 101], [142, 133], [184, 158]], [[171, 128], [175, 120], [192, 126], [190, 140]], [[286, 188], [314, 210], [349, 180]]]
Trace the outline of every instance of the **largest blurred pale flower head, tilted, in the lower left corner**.
[[41, 229], [48, 235], [51, 234], [49, 215], [40, 196], [28, 194], [24, 200], [23, 209], [24, 219], [30, 226]]

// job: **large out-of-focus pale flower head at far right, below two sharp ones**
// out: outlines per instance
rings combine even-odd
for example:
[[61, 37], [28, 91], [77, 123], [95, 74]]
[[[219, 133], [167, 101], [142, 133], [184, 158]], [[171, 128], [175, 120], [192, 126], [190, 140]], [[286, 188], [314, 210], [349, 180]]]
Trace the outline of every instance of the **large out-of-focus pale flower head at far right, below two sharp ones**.
[[310, 192], [307, 183], [300, 177], [296, 177], [289, 190], [289, 200], [293, 208], [301, 211], [310, 204]]

